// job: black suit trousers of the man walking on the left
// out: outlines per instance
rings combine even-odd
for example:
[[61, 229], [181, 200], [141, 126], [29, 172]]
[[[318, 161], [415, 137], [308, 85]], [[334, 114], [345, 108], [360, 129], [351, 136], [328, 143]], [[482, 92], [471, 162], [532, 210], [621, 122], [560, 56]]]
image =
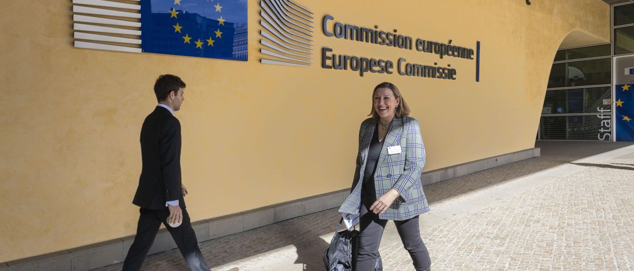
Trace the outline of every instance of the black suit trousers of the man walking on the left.
[[152, 243], [154, 243], [154, 238], [159, 232], [161, 223], [165, 225], [172, 235], [190, 269], [209, 271], [209, 266], [207, 266], [202, 253], [200, 253], [200, 248], [198, 248], [198, 240], [194, 230], [191, 228], [190, 215], [187, 213], [186, 208], [183, 208], [183, 223], [176, 228], [172, 228], [167, 224], [167, 217], [169, 217], [169, 209], [167, 208], [164, 210], [140, 208], [139, 213], [141, 214], [136, 228], [136, 236], [134, 237], [134, 243], [132, 243], [130, 250], [127, 252], [126, 260], [123, 264], [124, 271], [141, 269], [141, 265], [143, 265], [143, 261], [148, 255]]

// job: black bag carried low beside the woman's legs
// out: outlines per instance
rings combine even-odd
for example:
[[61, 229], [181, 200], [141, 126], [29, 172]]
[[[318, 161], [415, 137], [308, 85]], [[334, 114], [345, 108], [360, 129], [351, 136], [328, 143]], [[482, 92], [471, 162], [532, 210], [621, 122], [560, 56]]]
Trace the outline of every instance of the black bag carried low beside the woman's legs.
[[[358, 249], [357, 239], [359, 236], [358, 230], [343, 230], [339, 232], [339, 227], [343, 218], [339, 220], [335, 235], [330, 241], [330, 246], [323, 253], [323, 264], [327, 271], [352, 271], [354, 261], [356, 260], [356, 254]], [[375, 265], [375, 271], [383, 270], [383, 262], [381, 256], [378, 255], [377, 264]]]

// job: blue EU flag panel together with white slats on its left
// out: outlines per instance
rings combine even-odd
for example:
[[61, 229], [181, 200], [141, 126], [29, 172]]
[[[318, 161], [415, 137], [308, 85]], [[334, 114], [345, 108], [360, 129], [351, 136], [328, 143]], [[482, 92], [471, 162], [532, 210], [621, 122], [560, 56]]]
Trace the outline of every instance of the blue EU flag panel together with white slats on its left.
[[247, 2], [73, 0], [75, 47], [248, 59]]

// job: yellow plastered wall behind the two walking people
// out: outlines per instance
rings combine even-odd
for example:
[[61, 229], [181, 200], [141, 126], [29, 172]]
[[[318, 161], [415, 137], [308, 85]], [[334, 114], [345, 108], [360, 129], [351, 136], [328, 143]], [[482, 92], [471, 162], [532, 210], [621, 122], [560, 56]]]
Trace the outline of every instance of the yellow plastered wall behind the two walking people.
[[[53, 3], [56, 2], [56, 3]], [[548, 73], [572, 30], [609, 41], [600, 0], [299, 1], [316, 14], [312, 68], [75, 49], [68, 1], [6, 1], [0, 16], [0, 262], [134, 234], [139, 130], [154, 80], [187, 83], [183, 181], [193, 220], [349, 187], [374, 85], [394, 82], [421, 123], [426, 171], [533, 148]], [[475, 48], [475, 61], [335, 39], [321, 18]], [[458, 80], [325, 70], [320, 49], [451, 64]]]

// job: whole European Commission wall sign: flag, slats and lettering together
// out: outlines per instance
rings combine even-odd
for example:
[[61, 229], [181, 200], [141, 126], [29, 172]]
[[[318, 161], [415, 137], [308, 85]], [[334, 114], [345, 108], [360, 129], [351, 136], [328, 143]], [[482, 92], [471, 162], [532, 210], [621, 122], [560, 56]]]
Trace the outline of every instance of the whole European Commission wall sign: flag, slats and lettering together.
[[[136, 2], [136, 4], [131, 4]], [[311, 67], [315, 15], [292, 0], [261, 0], [261, 63]], [[235, 0], [73, 0], [75, 47], [134, 53], [174, 54], [224, 60], [248, 60], [247, 1]], [[412, 37], [396, 28], [342, 23], [325, 15], [321, 33], [329, 38], [416, 51], [437, 60], [420, 63], [337, 53], [323, 46], [321, 68], [456, 80], [459, 71], [448, 60], [474, 61], [480, 80], [480, 42], [475, 47]], [[630, 72], [630, 71], [626, 71]]]

